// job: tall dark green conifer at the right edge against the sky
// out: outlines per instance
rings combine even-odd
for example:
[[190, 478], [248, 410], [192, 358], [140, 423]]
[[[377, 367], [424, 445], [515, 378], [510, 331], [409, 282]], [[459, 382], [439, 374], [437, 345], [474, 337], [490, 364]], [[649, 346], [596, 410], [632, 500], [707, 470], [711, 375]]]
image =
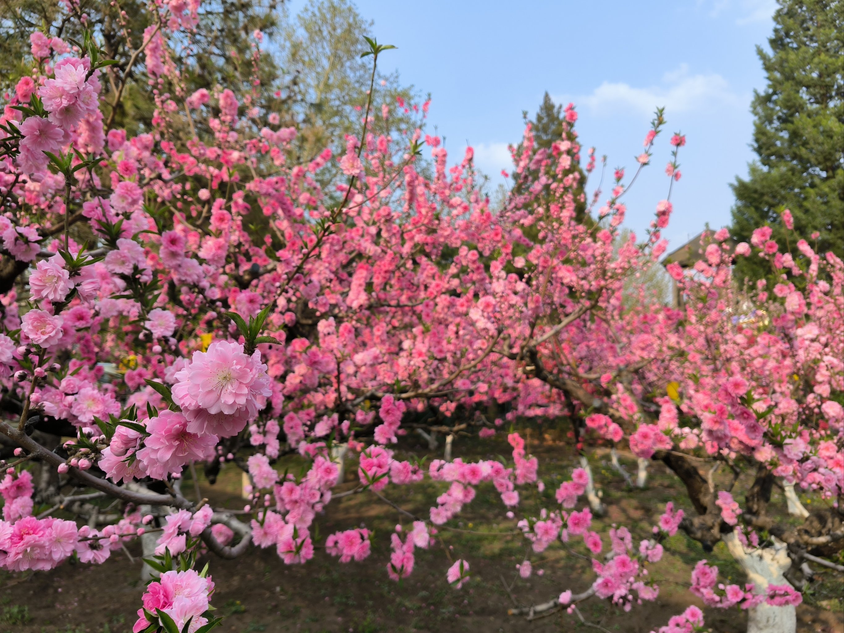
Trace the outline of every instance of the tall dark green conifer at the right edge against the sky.
[[[785, 243], [782, 210], [819, 252], [844, 256], [844, 2], [778, 0], [771, 53], [757, 47], [767, 76], [755, 92], [753, 148], [759, 156], [746, 180], [732, 185], [733, 235], [749, 241], [770, 225]], [[791, 245], [794, 240], [791, 239]], [[797, 254], [797, 253], [795, 253]], [[738, 278], [760, 279], [770, 265], [738, 261]]]

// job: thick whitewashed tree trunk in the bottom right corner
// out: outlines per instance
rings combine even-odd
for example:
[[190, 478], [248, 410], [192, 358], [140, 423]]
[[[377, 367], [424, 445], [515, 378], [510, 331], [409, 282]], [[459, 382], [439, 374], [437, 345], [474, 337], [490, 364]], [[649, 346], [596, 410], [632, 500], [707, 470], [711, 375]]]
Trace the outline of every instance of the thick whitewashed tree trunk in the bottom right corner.
[[[725, 534], [723, 541], [733, 558], [753, 582], [755, 593], [766, 593], [768, 585], [786, 585], [783, 574], [791, 566], [787, 545], [774, 540], [773, 547], [744, 549], [735, 532]], [[766, 602], [748, 610], [747, 633], [796, 633], [797, 609], [793, 605], [775, 607]]]

